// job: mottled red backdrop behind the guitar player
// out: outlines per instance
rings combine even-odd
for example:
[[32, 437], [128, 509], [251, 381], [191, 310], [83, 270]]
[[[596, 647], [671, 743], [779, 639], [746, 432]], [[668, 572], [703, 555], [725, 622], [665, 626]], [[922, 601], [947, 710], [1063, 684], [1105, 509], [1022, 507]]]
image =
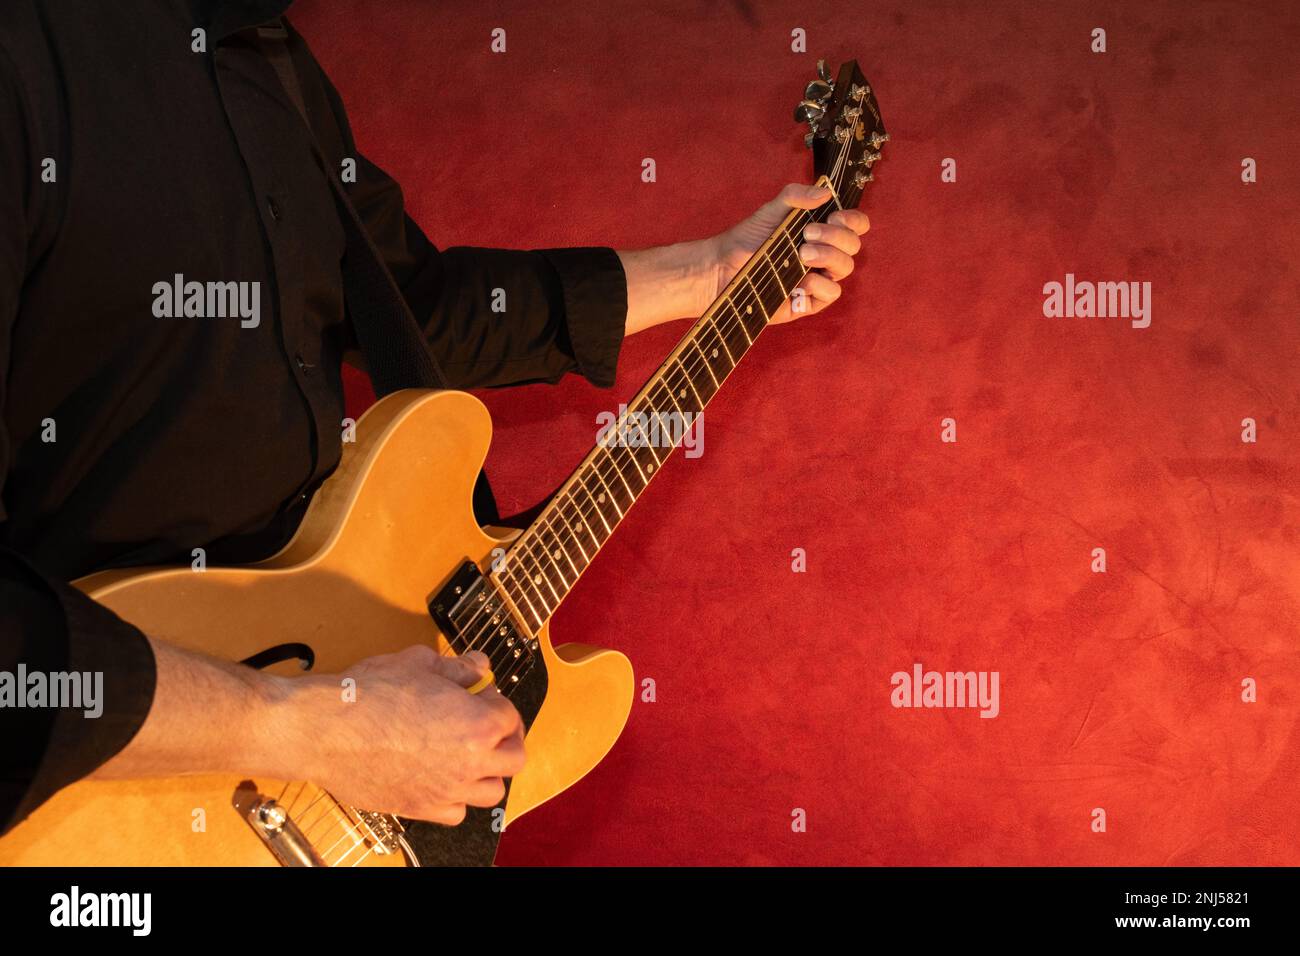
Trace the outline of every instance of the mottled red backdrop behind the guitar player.
[[[844, 300], [764, 334], [558, 613], [658, 700], [500, 862], [1300, 864], [1296, 9], [295, 5], [439, 245], [718, 232], [809, 178], [818, 56], [893, 135]], [[1066, 272], [1152, 282], [1150, 328], [1045, 319]], [[503, 507], [684, 329], [610, 392], [482, 395]], [[998, 671], [1000, 717], [893, 709], [918, 661]]]

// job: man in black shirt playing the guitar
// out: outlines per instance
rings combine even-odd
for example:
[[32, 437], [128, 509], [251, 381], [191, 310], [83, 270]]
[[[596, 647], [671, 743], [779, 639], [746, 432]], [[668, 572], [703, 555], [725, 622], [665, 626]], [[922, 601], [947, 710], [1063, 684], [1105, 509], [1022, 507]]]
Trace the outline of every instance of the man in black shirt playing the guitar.
[[[326, 176], [456, 388], [575, 371], [612, 385], [625, 334], [698, 315], [789, 207], [827, 198], [789, 186], [727, 233], [664, 248], [439, 251], [358, 152], [291, 29], [278, 42], [298, 90], [281, 82], [266, 25], [287, 5], [0, 10], [0, 672], [104, 675], [96, 719], [0, 709], [3, 827], [83, 777], [217, 771], [309, 779], [352, 805], [455, 823], [523, 767], [519, 714], [465, 691], [478, 654], [364, 661], [351, 674], [365, 693], [344, 706], [337, 676], [285, 680], [183, 652], [68, 585], [188, 563], [194, 549], [212, 563], [273, 554], [338, 463], [341, 367], [358, 341]], [[838, 295], [866, 229], [852, 211], [809, 228], [806, 311]], [[238, 315], [177, 315], [174, 277], [235, 284]], [[786, 304], [776, 320], [789, 317]]]

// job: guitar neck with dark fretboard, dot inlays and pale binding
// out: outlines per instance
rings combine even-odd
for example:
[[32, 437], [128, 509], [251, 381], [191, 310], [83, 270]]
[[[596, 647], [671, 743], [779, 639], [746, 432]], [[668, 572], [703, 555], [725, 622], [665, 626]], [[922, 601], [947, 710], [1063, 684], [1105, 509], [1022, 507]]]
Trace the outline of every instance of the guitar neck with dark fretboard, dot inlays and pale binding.
[[[822, 177], [819, 185], [831, 185]], [[809, 268], [803, 228], [841, 208], [792, 209], [682, 336], [515, 541], [493, 580], [532, 632], [551, 617]]]

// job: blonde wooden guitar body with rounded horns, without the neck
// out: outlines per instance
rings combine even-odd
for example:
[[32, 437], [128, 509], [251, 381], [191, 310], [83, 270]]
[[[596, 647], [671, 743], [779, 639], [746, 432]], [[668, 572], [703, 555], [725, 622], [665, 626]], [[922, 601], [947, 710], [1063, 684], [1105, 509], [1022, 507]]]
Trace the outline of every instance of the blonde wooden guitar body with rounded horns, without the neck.
[[[486, 571], [493, 549], [514, 536], [480, 528], [471, 510], [490, 434], [488, 410], [472, 395], [394, 393], [358, 423], [356, 442], [344, 444], [342, 464], [276, 557], [202, 572], [110, 571], [78, 587], [152, 637], [213, 657], [243, 661], [286, 643], [307, 645], [311, 672], [341, 682], [361, 658], [412, 644], [446, 653], [448, 636], [430, 617], [430, 598], [467, 559]], [[515, 701], [530, 721], [528, 766], [495, 819], [472, 810], [459, 827], [408, 825], [400, 851], [382, 852], [364, 839], [370, 830], [363, 821], [311, 784], [240, 777], [81, 782], [0, 840], [0, 865], [281, 865], [234, 805], [240, 787], [277, 797], [290, 817], [302, 814], [294, 822], [325, 865], [490, 862], [499, 830], [592, 770], [632, 705], [623, 654], [551, 646], [545, 627], [537, 640], [540, 683], [529, 678], [533, 692]], [[296, 658], [266, 671], [304, 672]]]

